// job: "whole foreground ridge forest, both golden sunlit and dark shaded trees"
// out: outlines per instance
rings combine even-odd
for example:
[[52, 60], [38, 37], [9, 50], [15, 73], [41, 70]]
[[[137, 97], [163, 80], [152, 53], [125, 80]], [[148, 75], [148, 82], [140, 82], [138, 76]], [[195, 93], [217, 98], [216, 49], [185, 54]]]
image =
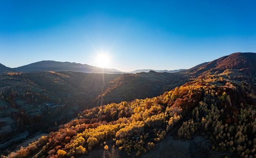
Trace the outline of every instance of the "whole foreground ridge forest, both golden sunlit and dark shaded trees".
[[[139, 156], [154, 149], [155, 143], [184, 121], [178, 138], [204, 135], [212, 141], [213, 149], [256, 157], [255, 103], [254, 84], [227, 81], [216, 75], [200, 77], [159, 97], [84, 110], [77, 119], [49, 134], [45, 144], [40, 144], [40, 156], [76, 157], [88, 154], [95, 146], [101, 146], [105, 154], [111, 147], [128, 156]], [[32, 147], [21, 150], [34, 152]], [[20, 153], [12, 155], [27, 156]]]

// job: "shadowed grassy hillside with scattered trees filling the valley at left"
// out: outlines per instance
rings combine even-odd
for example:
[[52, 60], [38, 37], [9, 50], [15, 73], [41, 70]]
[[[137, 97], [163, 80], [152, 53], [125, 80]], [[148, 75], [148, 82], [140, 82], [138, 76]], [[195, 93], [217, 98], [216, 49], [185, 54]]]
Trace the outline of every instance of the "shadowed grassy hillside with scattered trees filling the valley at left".
[[[120, 74], [26, 72], [0, 75], [0, 150], [38, 131], [48, 132], [89, 106]], [[13, 139], [12, 139], [13, 138]]]

